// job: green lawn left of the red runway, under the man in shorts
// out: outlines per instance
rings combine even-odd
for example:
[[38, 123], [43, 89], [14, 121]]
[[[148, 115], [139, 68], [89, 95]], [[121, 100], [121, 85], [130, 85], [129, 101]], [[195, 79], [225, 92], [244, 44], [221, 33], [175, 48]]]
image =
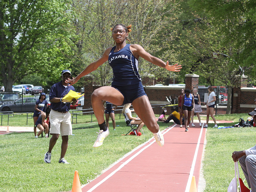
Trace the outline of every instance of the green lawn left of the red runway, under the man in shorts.
[[[75, 170], [81, 184], [96, 178], [133, 148], [144, 143], [153, 135], [144, 127], [145, 135], [124, 136], [130, 129], [124, 119], [116, 120], [116, 131], [110, 122], [110, 134], [103, 146], [92, 145], [99, 130], [97, 123], [73, 124], [74, 136], [69, 136], [65, 158], [70, 164], [59, 164], [61, 138], [52, 150], [51, 164], [44, 163], [50, 138], [34, 138], [34, 133], [11, 133], [0, 135], [0, 190], [8, 192], [57, 192], [70, 191]], [[166, 124], [159, 123], [163, 130]], [[77, 129], [91, 127], [88, 129]]]

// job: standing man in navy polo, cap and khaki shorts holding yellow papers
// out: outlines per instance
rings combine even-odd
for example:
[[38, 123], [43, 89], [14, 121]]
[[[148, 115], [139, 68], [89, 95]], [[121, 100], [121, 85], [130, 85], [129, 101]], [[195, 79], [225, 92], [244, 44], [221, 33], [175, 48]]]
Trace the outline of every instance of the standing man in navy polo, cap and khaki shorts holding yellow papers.
[[68, 135], [72, 135], [71, 115], [69, 110], [70, 104], [76, 105], [77, 100], [73, 98], [71, 103], [62, 102], [63, 97], [67, 95], [70, 90], [75, 91], [75, 88], [73, 86], [68, 86], [68, 83], [65, 83], [66, 80], [71, 78], [71, 72], [69, 70], [63, 70], [61, 72], [61, 78], [62, 80], [59, 83], [52, 85], [50, 91], [52, 108], [50, 112], [50, 134], [52, 135], [52, 138], [49, 142], [49, 149], [44, 154], [45, 163], [51, 163], [52, 148], [56, 144], [59, 136], [61, 136], [62, 143], [59, 163], [69, 164], [67, 160], [64, 159], [68, 148]]

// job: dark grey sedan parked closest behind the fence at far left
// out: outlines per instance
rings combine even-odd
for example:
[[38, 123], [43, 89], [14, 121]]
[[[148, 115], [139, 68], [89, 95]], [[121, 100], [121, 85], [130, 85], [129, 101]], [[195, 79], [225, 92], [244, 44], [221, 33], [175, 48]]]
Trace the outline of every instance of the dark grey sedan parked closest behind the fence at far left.
[[12, 111], [14, 113], [33, 112], [35, 110], [36, 100], [33, 97], [20, 98], [12, 103], [2, 105], [0, 111]]

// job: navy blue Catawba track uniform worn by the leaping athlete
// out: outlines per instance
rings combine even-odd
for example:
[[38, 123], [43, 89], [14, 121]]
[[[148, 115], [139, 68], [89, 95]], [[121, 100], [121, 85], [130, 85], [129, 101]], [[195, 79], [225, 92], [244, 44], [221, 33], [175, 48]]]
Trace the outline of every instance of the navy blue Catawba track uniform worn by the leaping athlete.
[[108, 55], [108, 63], [113, 69], [113, 82], [111, 86], [123, 94], [123, 105], [132, 103], [133, 100], [147, 95], [138, 72], [138, 60], [133, 56], [130, 45], [126, 44], [118, 52], [114, 52], [116, 48], [114, 46]]

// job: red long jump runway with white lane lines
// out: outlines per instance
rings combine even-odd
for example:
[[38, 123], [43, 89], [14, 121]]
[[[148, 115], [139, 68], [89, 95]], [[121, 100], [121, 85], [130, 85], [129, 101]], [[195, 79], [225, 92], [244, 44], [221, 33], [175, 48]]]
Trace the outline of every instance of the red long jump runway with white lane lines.
[[[203, 124], [204, 126], [204, 124]], [[202, 127], [203, 127], [202, 126]], [[91, 183], [83, 192], [188, 192], [192, 176], [198, 185], [205, 128], [174, 125], [165, 129], [164, 146], [155, 139], [138, 146]]]

